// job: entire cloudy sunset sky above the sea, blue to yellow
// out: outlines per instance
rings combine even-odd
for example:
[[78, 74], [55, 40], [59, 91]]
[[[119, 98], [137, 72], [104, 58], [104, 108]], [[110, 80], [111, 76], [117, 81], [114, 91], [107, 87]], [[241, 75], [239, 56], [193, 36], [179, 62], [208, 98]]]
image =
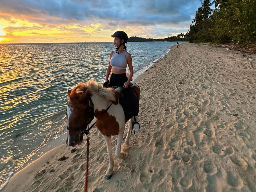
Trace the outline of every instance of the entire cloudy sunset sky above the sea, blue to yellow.
[[112, 42], [188, 32], [200, 0], [0, 0], [0, 43]]

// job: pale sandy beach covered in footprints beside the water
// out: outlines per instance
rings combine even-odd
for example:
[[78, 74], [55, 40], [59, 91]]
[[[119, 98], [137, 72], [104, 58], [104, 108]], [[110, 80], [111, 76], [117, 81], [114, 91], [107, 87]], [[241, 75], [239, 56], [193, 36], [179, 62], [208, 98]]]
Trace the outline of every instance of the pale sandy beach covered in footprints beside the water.
[[[134, 81], [140, 130], [106, 180], [106, 144], [92, 129], [88, 191], [256, 191], [256, 55], [180, 44]], [[2, 191], [84, 191], [86, 140], [75, 148], [54, 148]]]

